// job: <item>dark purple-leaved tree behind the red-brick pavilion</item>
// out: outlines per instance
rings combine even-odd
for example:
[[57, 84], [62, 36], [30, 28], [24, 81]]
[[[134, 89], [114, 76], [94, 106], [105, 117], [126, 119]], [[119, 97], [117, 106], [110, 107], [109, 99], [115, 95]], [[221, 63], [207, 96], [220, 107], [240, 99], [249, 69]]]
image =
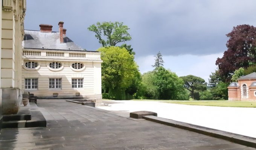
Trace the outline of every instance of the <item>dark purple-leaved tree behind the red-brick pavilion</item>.
[[239, 25], [227, 34], [227, 51], [217, 58], [216, 65], [224, 81], [230, 82], [236, 69], [247, 68], [256, 63], [256, 27]]

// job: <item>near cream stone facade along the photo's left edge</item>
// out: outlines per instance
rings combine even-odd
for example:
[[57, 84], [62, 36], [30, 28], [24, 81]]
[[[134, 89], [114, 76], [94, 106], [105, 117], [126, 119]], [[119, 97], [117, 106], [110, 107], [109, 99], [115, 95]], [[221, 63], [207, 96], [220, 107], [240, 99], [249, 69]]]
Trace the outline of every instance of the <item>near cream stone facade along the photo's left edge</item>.
[[26, 0], [1, 0], [0, 112], [15, 114], [22, 99], [21, 62]]

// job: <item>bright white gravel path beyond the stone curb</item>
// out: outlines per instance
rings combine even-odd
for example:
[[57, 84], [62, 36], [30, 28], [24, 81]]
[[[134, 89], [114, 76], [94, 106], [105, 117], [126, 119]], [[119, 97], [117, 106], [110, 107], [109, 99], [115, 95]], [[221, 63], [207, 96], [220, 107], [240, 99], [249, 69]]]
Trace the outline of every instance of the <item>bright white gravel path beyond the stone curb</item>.
[[152, 111], [158, 117], [224, 130], [256, 138], [256, 108], [211, 107], [170, 104], [154, 101], [104, 101], [109, 107], [98, 107], [123, 117], [130, 112]]

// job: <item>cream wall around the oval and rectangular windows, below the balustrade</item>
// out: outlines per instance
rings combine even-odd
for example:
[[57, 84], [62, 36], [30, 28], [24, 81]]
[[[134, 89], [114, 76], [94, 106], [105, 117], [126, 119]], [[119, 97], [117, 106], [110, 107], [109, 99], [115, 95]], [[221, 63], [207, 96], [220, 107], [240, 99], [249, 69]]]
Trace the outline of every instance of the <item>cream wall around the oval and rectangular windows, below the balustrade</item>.
[[[85, 69], [82, 71], [73, 71], [70, 68], [70, 65], [74, 62], [61, 62], [54, 60], [36, 61], [25, 59], [24, 63], [29, 61], [37, 62], [40, 67], [34, 71], [30, 71], [24, 68], [22, 69], [22, 87], [24, 89], [24, 78], [38, 78], [38, 90], [29, 91], [30, 93], [34, 93], [35, 96], [39, 96], [42, 98], [51, 98], [53, 93], [58, 93], [59, 95], [57, 98], [78, 97], [75, 96], [76, 92], [79, 92], [81, 95], [80, 97], [84, 98], [94, 98], [96, 93], [101, 95], [101, 90], [99, 90], [99, 87], [101, 89], [101, 63], [94, 67], [93, 62], [82, 62], [85, 66]], [[47, 64], [49, 62], [60, 62], [63, 68], [60, 71], [51, 71], [47, 67]], [[95, 73], [97, 73], [96, 76]], [[62, 89], [49, 90], [49, 78], [62, 78]], [[72, 78], [84, 78], [83, 88], [72, 89]], [[97, 91], [94, 88], [95, 83], [97, 84]], [[24, 92], [28, 91], [24, 90]]]

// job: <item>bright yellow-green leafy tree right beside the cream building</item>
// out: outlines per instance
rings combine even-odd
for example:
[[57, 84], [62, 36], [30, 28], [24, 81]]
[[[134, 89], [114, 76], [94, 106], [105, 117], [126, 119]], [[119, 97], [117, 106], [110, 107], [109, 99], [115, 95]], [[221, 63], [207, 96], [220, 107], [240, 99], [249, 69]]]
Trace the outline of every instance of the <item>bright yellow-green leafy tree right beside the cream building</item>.
[[125, 90], [133, 84], [138, 66], [124, 48], [117, 46], [102, 47], [102, 88], [104, 93], [115, 99], [126, 99]]

